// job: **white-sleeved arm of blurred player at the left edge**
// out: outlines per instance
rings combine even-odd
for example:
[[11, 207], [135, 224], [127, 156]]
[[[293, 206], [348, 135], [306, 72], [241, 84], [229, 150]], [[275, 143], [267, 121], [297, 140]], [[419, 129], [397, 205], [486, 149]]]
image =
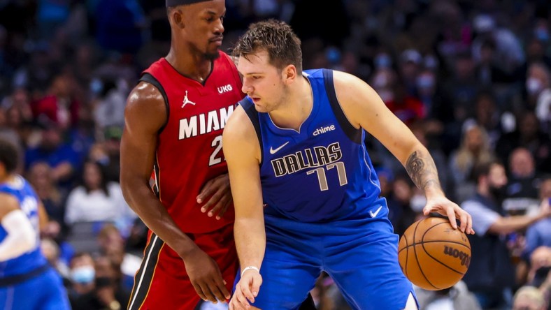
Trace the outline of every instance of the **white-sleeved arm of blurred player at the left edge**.
[[0, 223], [8, 232], [0, 242], [0, 262], [16, 258], [36, 246], [36, 232], [13, 195], [0, 193]]

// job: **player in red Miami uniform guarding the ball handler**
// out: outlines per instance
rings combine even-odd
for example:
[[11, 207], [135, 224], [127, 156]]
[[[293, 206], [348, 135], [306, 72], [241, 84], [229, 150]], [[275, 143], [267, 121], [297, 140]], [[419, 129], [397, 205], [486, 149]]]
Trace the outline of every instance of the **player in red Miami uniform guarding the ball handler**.
[[[166, 7], [171, 50], [129, 94], [121, 140], [124, 198], [150, 228], [129, 309], [227, 300], [238, 265], [222, 128], [244, 95], [233, 61], [219, 50], [225, 2], [166, 0]], [[303, 309], [311, 307], [309, 297]]]

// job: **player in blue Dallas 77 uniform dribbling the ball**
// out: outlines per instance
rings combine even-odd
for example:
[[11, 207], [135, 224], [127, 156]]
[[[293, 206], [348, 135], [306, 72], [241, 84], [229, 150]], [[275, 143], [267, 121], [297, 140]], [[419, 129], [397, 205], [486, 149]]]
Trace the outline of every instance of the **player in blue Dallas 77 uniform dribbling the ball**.
[[248, 97], [223, 135], [241, 262], [230, 309], [296, 309], [322, 271], [353, 309], [417, 309], [365, 131], [424, 190], [424, 214], [473, 233], [427, 149], [362, 80], [303, 72], [300, 40], [284, 22], [252, 24], [234, 52]]

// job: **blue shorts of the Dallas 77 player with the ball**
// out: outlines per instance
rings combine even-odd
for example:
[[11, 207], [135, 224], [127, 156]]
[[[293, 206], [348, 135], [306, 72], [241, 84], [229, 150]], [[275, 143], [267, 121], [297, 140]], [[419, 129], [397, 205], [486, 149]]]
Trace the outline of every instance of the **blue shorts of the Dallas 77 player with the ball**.
[[[383, 209], [386, 213], [386, 206]], [[331, 223], [266, 215], [263, 283], [253, 305], [264, 310], [298, 309], [324, 271], [352, 309], [405, 308], [408, 295], [415, 293], [398, 263], [399, 237], [380, 213], [375, 219]]]

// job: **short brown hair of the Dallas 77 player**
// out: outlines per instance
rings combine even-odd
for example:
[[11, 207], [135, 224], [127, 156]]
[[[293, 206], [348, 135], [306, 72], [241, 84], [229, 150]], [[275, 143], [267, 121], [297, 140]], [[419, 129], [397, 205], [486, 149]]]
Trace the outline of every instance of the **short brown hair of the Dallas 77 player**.
[[301, 40], [285, 22], [270, 19], [251, 24], [237, 41], [232, 54], [248, 59], [250, 54], [261, 50], [268, 52], [269, 63], [276, 68], [281, 70], [292, 64], [302, 73]]

